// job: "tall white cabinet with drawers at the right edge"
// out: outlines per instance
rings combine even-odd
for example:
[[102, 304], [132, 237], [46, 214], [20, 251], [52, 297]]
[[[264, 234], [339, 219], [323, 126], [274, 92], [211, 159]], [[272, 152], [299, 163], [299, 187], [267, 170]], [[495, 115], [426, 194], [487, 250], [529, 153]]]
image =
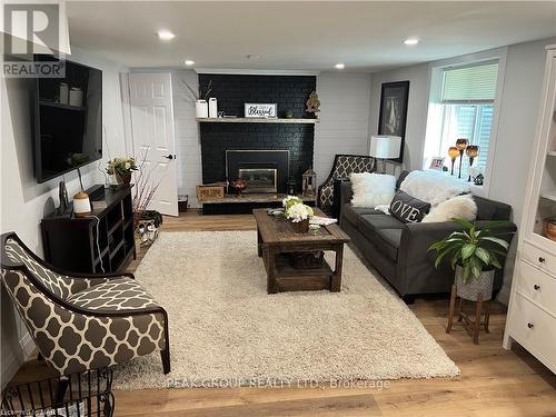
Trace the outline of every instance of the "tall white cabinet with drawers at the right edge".
[[545, 227], [556, 215], [556, 44], [546, 49], [504, 347], [517, 341], [556, 373], [556, 241]]

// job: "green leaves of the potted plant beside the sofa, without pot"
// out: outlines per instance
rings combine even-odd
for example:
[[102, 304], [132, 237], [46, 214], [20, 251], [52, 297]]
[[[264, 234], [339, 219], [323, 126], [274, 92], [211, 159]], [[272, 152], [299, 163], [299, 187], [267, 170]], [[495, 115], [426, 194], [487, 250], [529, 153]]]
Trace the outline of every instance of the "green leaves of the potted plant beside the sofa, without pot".
[[[463, 282], [479, 280], [484, 271], [502, 269], [502, 262], [508, 251], [508, 242], [499, 236], [508, 235], [509, 221], [492, 221], [486, 228], [477, 230], [475, 225], [461, 219], [451, 221], [464, 227], [461, 231], [454, 231], [448, 237], [433, 244], [429, 250], [436, 250], [435, 267], [438, 268], [443, 259], [450, 259], [451, 268], [460, 267]], [[496, 234], [496, 229], [505, 228], [504, 232]]]

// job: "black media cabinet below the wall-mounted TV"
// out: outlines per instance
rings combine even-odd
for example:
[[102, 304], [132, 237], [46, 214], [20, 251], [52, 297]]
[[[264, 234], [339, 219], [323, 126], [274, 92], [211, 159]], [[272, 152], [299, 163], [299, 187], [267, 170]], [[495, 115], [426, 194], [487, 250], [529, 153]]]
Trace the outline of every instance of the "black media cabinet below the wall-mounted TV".
[[53, 212], [42, 219], [44, 259], [70, 272], [121, 271], [136, 258], [131, 187], [103, 192], [93, 187], [87, 193], [91, 216]]

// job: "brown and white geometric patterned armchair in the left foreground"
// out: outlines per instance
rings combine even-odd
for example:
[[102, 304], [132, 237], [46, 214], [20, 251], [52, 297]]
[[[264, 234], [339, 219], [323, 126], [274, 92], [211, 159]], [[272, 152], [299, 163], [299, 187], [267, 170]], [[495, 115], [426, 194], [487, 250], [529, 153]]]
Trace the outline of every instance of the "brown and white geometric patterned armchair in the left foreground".
[[70, 276], [14, 232], [1, 236], [1, 278], [40, 355], [60, 375], [160, 350], [170, 371], [168, 314], [132, 274]]

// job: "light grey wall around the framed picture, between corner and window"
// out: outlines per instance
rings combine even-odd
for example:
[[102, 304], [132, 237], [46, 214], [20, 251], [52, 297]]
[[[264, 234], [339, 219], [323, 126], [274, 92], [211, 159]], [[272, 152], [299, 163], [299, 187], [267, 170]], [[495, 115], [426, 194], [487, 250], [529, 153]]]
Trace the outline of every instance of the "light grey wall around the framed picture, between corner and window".
[[404, 168], [410, 170], [421, 168], [428, 109], [428, 63], [373, 73], [370, 76], [369, 133], [378, 133], [378, 115], [380, 111], [383, 83], [407, 80], [409, 81], [409, 97], [404, 146]]

